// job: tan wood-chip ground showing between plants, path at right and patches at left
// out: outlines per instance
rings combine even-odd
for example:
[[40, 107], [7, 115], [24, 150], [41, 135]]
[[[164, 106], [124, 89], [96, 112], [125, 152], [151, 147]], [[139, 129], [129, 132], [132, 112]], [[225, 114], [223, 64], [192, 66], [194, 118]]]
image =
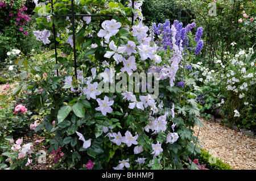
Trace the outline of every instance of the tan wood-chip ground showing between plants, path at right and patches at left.
[[[7, 84], [0, 85], [0, 94]], [[9, 89], [14, 87], [10, 85]], [[256, 170], [256, 139], [246, 136], [241, 131], [235, 131], [216, 123], [202, 119], [204, 127], [195, 127], [195, 136], [199, 131], [200, 146], [209, 151], [214, 157], [229, 163], [234, 170]], [[26, 140], [34, 140], [32, 137], [24, 136]], [[46, 148], [47, 149], [47, 148]], [[47, 151], [47, 150], [46, 150]], [[46, 163], [35, 163], [34, 170], [52, 169], [53, 158], [47, 155]]]

